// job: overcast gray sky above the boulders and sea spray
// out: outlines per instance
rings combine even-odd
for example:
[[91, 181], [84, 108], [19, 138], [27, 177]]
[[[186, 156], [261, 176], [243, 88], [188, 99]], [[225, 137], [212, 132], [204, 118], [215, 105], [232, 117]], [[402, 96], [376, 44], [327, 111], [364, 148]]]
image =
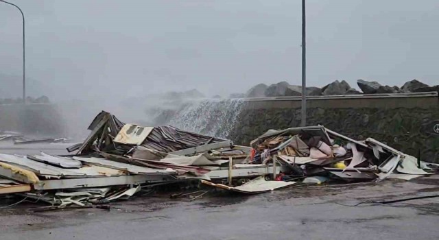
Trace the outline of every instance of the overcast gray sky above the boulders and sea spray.
[[[69, 99], [300, 84], [299, 0], [10, 1], [26, 17], [29, 95], [42, 86]], [[308, 84], [439, 84], [438, 23], [438, 0], [309, 0]], [[21, 76], [21, 16], [4, 3], [0, 74]], [[21, 82], [10, 85], [1, 93], [20, 96]]]

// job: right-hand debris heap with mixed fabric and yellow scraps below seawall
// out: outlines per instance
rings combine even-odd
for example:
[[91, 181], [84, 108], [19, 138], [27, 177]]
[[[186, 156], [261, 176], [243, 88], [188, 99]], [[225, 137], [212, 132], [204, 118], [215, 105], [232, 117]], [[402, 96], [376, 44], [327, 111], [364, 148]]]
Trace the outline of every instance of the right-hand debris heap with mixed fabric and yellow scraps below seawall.
[[250, 145], [255, 149], [251, 163], [282, 165], [276, 180], [410, 180], [431, 174], [432, 170], [414, 156], [375, 139], [355, 141], [321, 125], [269, 130]]

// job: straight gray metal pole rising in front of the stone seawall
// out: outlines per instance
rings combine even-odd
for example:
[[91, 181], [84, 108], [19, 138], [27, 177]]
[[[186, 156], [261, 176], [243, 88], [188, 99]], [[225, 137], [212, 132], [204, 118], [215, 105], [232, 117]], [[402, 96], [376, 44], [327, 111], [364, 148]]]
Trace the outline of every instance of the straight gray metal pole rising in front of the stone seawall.
[[306, 25], [305, 25], [305, 0], [302, 0], [302, 110], [300, 112], [300, 125], [307, 125], [307, 46], [306, 46]]

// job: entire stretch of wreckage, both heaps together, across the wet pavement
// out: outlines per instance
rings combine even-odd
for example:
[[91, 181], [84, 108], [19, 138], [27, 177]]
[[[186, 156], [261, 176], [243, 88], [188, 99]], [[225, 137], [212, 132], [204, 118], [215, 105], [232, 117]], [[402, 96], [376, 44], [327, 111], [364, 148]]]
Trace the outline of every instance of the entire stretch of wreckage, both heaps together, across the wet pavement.
[[[71, 155], [0, 154], [0, 194], [15, 193], [56, 208], [91, 207], [193, 180], [254, 194], [300, 184], [410, 180], [432, 173], [427, 163], [375, 139], [355, 141], [321, 125], [268, 130], [250, 147], [171, 126], [126, 124], [104, 111], [88, 130], [83, 143], [67, 148]], [[200, 192], [196, 198], [206, 194]]]

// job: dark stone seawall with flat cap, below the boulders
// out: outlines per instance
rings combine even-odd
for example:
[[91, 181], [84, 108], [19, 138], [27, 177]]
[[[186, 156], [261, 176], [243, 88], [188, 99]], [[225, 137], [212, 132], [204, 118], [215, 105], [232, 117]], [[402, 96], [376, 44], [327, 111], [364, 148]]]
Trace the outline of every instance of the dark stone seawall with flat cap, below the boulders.
[[[359, 140], [372, 137], [413, 156], [420, 150], [423, 160], [439, 162], [437, 93], [313, 97], [307, 106], [307, 125], [321, 124]], [[268, 129], [298, 125], [299, 98], [249, 99], [229, 138], [248, 145]]]

